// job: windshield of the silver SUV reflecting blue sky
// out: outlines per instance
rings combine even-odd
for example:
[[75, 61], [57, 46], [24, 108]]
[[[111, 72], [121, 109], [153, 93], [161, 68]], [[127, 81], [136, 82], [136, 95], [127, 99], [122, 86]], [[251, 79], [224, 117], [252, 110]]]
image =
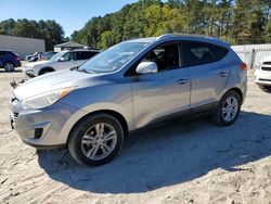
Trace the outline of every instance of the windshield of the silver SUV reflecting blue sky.
[[86, 73], [111, 73], [121, 68], [149, 43], [121, 42], [95, 55], [79, 67]]

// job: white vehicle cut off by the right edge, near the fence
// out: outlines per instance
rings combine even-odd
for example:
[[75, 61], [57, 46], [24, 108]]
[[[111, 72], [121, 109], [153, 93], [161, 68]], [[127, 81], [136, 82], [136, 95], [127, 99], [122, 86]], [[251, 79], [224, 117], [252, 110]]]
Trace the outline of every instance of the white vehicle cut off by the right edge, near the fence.
[[255, 66], [255, 82], [264, 91], [271, 91], [271, 56], [259, 61]]

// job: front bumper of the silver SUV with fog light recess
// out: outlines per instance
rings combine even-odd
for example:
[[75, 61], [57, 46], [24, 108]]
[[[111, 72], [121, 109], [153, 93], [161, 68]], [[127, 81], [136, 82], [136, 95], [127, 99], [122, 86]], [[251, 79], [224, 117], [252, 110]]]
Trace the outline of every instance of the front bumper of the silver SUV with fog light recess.
[[76, 112], [77, 109], [59, 102], [42, 110], [12, 112], [10, 120], [25, 143], [38, 149], [53, 149], [66, 145], [69, 132], [65, 132], [65, 137], [61, 137], [61, 132]]

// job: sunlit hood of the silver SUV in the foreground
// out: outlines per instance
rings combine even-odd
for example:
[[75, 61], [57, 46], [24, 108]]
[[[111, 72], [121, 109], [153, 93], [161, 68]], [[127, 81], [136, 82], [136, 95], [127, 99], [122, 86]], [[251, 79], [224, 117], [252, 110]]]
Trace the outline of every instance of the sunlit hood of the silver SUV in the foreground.
[[[111, 84], [101, 77], [106, 74], [87, 74], [77, 71], [59, 71], [46, 74], [20, 85], [13, 92], [20, 101], [42, 94], [49, 91], [67, 87], [90, 87]], [[108, 74], [107, 74], [108, 75]]]

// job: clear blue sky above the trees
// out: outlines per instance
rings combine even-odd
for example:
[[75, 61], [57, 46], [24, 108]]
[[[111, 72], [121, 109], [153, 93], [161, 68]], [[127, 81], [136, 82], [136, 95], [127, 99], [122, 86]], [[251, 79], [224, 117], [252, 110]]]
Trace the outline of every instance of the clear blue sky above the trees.
[[137, 0], [0, 0], [0, 21], [55, 20], [69, 37], [91, 17], [119, 11], [133, 2]]

